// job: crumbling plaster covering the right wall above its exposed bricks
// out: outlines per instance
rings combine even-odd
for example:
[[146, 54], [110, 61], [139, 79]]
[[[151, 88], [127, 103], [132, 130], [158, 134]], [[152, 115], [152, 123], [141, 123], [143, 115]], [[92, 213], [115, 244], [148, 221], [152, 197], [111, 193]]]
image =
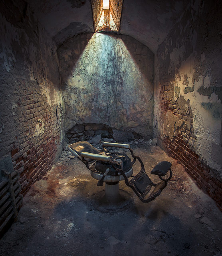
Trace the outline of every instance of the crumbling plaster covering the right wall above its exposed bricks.
[[[176, 23], [155, 56], [154, 134], [168, 136], [172, 112], [160, 112], [161, 90], [170, 86], [169, 97], [185, 100], [193, 115], [196, 139], [189, 144], [218, 175], [222, 175], [222, 4], [194, 1]], [[161, 120], [165, 118], [165, 124]], [[175, 119], [175, 118], [174, 118]], [[175, 131], [176, 132], [176, 131]], [[172, 134], [176, 135], [175, 133]]]

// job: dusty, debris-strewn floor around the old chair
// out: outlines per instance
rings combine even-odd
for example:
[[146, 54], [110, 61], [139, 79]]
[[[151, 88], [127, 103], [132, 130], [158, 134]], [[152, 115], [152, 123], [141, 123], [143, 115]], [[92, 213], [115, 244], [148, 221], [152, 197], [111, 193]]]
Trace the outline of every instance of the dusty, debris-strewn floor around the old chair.
[[172, 162], [172, 181], [156, 200], [143, 204], [122, 181], [120, 188], [133, 197], [129, 208], [98, 211], [93, 198], [105, 185], [97, 187], [65, 151], [26, 194], [18, 222], [0, 240], [0, 255], [222, 255], [222, 214], [215, 202], [158, 146], [132, 148], [148, 174], [157, 162]]

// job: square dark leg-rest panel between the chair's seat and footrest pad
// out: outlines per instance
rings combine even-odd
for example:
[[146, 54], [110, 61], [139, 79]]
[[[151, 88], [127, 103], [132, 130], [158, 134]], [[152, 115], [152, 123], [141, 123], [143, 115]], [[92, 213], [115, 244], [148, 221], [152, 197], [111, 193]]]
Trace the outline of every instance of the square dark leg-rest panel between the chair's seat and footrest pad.
[[151, 190], [153, 183], [147, 174], [141, 170], [129, 181], [129, 185], [133, 186], [141, 197], [144, 198]]

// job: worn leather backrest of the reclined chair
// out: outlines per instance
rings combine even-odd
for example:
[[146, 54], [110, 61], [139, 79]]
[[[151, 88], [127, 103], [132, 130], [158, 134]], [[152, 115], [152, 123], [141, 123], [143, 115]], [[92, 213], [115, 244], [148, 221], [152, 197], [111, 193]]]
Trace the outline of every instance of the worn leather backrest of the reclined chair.
[[[83, 158], [81, 157], [82, 152], [88, 152], [93, 154], [103, 154], [101, 151], [93, 147], [89, 142], [81, 140], [79, 142], [75, 142], [68, 146], [69, 151], [74, 153], [81, 161]], [[85, 161], [83, 162], [95, 162], [95, 160], [84, 158]]]

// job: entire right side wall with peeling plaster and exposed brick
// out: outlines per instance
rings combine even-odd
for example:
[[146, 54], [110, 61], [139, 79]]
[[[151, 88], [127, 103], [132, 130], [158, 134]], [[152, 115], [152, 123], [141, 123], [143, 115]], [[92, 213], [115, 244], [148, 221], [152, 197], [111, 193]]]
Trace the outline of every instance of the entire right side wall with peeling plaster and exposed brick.
[[[221, 11], [219, 1], [196, 0], [188, 5], [157, 50], [154, 102], [154, 135], [159, 144], [164, 147], [167, 139], [172, 144], [168, 151], [179, 158], [181, 140], [187, 148], [185, 158], [196, 154], [198, 164], [188, 166], [188, 172], [212, 197], [218, 193], [214, 198], [218, 203], [220, 185], [219, 192], [209, 186], [222, 177]], [[208, 174], [202, 175], [206, 169]], [[209, 177], [214, 177], [211, 185]]]

